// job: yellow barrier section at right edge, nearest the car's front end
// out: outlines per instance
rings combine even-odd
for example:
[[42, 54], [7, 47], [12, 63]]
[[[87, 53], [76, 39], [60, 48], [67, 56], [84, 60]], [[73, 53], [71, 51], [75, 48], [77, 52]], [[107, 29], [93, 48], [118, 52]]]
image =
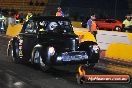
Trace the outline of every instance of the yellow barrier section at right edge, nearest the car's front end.
[[106, 49], [105, 57], [132, 63], [132, 45], [111, 43]]

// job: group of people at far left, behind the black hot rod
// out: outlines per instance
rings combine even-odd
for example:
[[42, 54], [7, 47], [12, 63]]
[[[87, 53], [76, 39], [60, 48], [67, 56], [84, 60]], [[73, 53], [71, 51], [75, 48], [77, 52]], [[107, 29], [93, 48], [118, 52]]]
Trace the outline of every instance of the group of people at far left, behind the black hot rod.
[[23, 24], [25, 21], [28, 21], [30, 18], [35, 16], [32, 12], [28, 12], [26, 15], [19, 12], [9, 11], [8, 14], [0, 13], [0, 32], [5, 33], [8, 25], [14, 26], [15, 24]]

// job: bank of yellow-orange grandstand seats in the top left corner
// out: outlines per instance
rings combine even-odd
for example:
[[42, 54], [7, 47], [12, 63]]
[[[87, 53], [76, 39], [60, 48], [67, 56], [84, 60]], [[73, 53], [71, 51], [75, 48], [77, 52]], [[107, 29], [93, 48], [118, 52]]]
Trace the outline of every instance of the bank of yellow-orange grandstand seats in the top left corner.
[[27, 14], [29, 11], [35, 14], [42, 14], [48, 1], [49, 0], [0, 0], [0, 8], [14, 9], [23, 14]]

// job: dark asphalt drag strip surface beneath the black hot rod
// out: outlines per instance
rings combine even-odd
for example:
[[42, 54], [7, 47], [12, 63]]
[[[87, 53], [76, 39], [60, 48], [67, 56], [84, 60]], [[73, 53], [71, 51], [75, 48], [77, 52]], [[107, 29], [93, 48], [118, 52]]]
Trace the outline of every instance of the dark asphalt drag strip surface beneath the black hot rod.
[[[1, 38], [2, 39], [2, 38]], [[7, 39], [8, 40], [8, 39]], [[76, 82], [76, 66], [55, 67], [48, 73], [36, 65], [14, 64], [6, 56], [6, 39], [0, 48], [0, 87], [1, 88], [131, 88], [132, 84], [84, 84]], [[5, 45], [3, 46], [3, 42]], [[100, 63], [101, 64], [101, 63]], [[104, 65], [105, 66], [105, 65]], [[114, 74], [103, 69], [88, 69], [87, 74]]]

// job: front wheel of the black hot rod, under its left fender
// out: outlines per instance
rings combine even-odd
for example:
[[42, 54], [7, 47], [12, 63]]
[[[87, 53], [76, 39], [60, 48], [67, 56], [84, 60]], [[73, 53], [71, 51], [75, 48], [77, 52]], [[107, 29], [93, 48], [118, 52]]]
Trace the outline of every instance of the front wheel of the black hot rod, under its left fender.
[[38, 63], [42, 71], [46, 72], [49, 70], [49, 66], [45, 63], [43, 57], [41, 56], [41, 51], [40, 49], [36, 49], [34, 51], [34, 59], [33, 63]]

